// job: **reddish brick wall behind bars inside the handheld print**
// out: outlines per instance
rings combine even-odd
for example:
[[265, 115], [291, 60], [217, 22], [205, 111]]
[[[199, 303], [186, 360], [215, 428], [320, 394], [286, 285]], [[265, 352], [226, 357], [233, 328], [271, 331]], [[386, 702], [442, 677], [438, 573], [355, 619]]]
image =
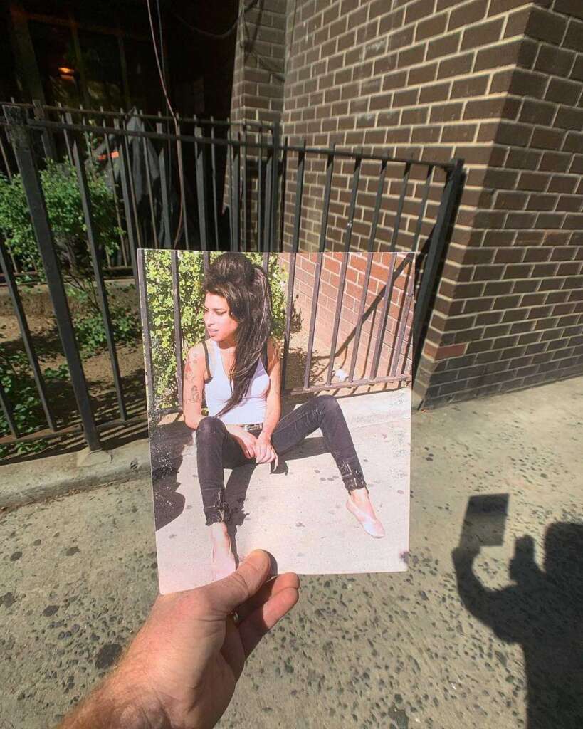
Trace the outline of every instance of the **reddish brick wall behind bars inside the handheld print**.
[[[404, 322], [404, 335], [400, 351], [396, 350], [396, 338], [399, 325], [405, 316], [404, 301], [407, 286], [415, 276], [413, 257], [411, 254], [375, 254], [372, 261], [369, 284], [364, 298], [364, 316], [362, 319], [361, 338], [356, 356], [354, 377], [371, 376], [375, 346], [379, 334], [380, 320], [383, 312], [383, 297], [391, 267], [391, 255], [394, 255], [393, 286], [391, 301], [387, 310], [386, 327], [383, 330], [383, 345], [377, 375], [389, 374], [395, 357], [396, 373], [410, 375], [412, 370], [410, 351], [410, 332], [412, 324], [412, 305]], [[340, 268], [344, 254], [324, 254], [321, 271], [321, 284], [318, 293], [316, 314], [316, 343], [324, 350], [330, 351], [334, 330], [337, 296], [340, 292]], [[284, 265], [289, 261], [288, 255], [282, 256]], [[302, 316], [302, 331], [308, 332], [313, 302], [314, 283], [316, 278], [317, 254], [298, 254], [294, 278], [294, 307]], [[355, 332], [359, 321], [359, 311], [364, 293], [364, 277], [367, 268], [367, 257], [361, 253], [352, 253], [348, 258], [345, 287], [340, 309], [340, 327], [337, 346], [334, 351], [334, 370], [341, 367], [346, 373], [350, 370]], [[293, 337], [292, 337], [293, 345]]]

